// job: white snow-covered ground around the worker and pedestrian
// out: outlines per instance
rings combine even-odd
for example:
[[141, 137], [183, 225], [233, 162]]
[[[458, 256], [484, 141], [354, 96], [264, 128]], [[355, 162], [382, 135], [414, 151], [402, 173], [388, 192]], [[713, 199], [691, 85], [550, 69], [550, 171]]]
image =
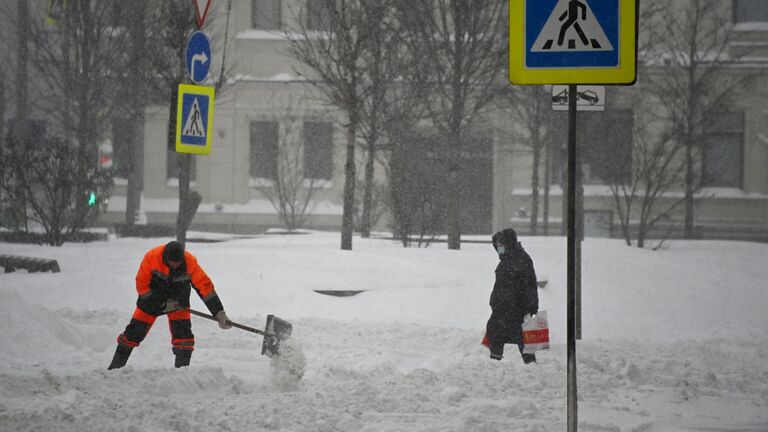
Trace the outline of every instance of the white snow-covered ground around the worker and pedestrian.
[[[62, 270], [0, 273], [0, 431], [566, 429], [564, 238], [522, 238], [548, 280], [539, 296], [552, 327], [552, 348], [526, 366], [516, 347], [495, 362], [479, 344], [489, 244], [356, 237], [350, 252], [338, 233], [218, 237], [188, 249], [232, 319], [294, 324], [307, 359], [298, 385], [273, 373], [259, 336], [196, 317], [191, 367], [172, 367], [160, 318], [127, 367], [106, 370], [139, 261], [169, 239], [0, 243]], [[579, 430], [768, 431], [768, 245], [654, 252], [587, 239], [583, 251]], [[313, 291], [324, 289], [366, 291]]]

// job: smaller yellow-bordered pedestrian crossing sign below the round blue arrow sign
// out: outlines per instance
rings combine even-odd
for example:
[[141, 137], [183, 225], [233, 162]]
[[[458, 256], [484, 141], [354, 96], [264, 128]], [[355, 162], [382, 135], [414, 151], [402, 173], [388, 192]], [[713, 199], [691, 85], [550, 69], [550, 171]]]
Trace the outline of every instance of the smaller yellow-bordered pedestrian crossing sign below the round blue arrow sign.
[[176, 152], [200, 155], [211, 152], [213, 95], [213, 87], [179, 84]]

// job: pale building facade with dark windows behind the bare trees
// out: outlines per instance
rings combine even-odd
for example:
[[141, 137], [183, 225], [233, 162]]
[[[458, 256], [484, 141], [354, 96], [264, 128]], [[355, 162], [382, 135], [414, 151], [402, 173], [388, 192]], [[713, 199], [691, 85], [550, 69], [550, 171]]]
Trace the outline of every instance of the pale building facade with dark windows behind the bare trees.
[[[299, 27], [298, 20], [309, 29], [319, 26], [323, 16], [312, 13], [308, 7], [312, 2], [236, 0], [229, 14], [225, 2], [212, 2], [204, 27], [213, 41], [211, 71], [221, 69], [226, 45], [227, 84], [216, 96], [208, 131], [213, 134], [211, 153], [193, 156], [191, 187], [203, 201], [192, 229], [260, 232], [284, 226], [277, 210], [281, 198], [276, 194], [285, 184], [290, 185], [290, 193], [282, 199], [299, 203], [293, 213], [306, 216], [303, 227], [339, 229], [345, 181], [345, 118], [324, 104], [313, 83], [296, 72], [302, 66], [289, 54], [286, 36]], [[754, 76], [749, 84], [734, 89], [728, 106], [711, 116], [701, 134], [700, 139], [707, 144], [701, 146], [703, 187], [695, 195], [695, 224], [701, 237], [768, 240], [768, 6], [761, 0], [722, 4], [732, 35], [729, 50], [742, 53]], [[643, 23], [640, 31], [642, 38]], [[633, 131], [639, 122], [636, 100], [648, 89], [646, 76], [659, 73], [657, 65], [641, 63], [635, 86], [607, 90], [604, 112], [579, 114], [579, 142], [585, 156], [582, 205], [588, 236], [620, 236], [615, 199], [605, 181], [606, 165], [612, 167], [609, 171], [618, 167], [625, 180], [633, 175], [632, 167], [638, 161], [632, 154]], [[500, 74], [506, 75], [504, 71]], [[140, 223], [176, 221], [177, 155], [167, 150], [168, 117], [166, 105], [150, 106], [145, 111], [143, 191], [136, 215]], [[549, 151], [538, 167], [536, 233], [559, 235], [567, 125], [562, 115], [553, 115], [551, 121]], [[469, 143], [463, 156], [461, 181], [469, 193], [462, 200], [462, 233], [490, 234], [506, 226], [530, 233], [534, 159], [529, 137], [515, 133], [520, 125], [501, 108], [485, 124], [481, 137]], [[105, 139], [111, 140], [119, 166], [125, 151], [121, 148], [126, 145], [119, 125]], [[362, 183], [365, 155], [359, 149], [357, 156], [358, 183]], [[606, 156], [601, 163], [594, 162], [601, 156]], [[550, 165], [545, 169], [547, 161]], [[384, 191], [377, 199], [382, 202], [387, 199], [384, 171], [384, 166], [376, 165], [376, 182]], [[281, 179], [284, 174], [290, 178]], [[125, 177], [116, 171], [116, 187], [101, 224], [125, 220]], [[679, 187], [670, 190], [662, 201], [672, 202], [681, 193]], [[386, 205], [380, 208], [384, 210], [374, 229], [390, 231], [391, 215]], [[679, 234], [682, 207], [667, 217], [665, 226]]]

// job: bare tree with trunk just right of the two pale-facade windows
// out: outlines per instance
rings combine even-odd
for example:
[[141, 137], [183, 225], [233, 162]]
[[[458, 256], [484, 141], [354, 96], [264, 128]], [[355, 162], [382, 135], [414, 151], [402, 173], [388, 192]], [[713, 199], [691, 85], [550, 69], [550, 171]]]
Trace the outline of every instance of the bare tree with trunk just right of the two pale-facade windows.
[[316, 0], [301, 12], [290, 29], [291, 54], [306, 68], [305, 76], [330, 105], [346, 115], [346, 162], [341, 220], [341, 249], [352, 249], [355, 202], [355, 147], [363, 107], [361, 59], [372, 28], [366, 19], [365, 0]]

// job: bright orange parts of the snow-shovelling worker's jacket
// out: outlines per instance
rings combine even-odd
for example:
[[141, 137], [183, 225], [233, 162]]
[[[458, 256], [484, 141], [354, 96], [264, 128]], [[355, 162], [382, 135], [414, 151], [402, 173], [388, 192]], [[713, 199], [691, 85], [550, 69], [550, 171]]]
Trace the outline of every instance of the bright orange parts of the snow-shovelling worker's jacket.
[[[141, 261], [139, 271], [136, 273], [136, 291], [139, 296], [144, 298], [151, 292], [149, 282], [152, 280], [152, 272], [158, 271], [168, 276], [171, 269], [163, 262], [163, 250], [165, 245], [160, 245], [151, 249], [144, 255]], [[197, 263], [197, 258], [191, 253], [184, 251], [184, 262], [187, 268], [187, 274], [192, 280], [192, 287], [198, 292], [203, 301], [216, 297], [216, 291], [213, 288], [213, 282]]]

